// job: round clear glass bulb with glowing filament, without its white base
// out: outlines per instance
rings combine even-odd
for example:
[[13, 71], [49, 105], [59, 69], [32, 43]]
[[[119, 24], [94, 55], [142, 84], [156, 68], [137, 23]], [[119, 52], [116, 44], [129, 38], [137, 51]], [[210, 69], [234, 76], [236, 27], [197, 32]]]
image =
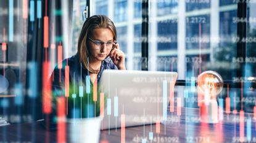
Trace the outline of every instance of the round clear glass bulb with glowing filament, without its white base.
[[214, 97], [221, 92], [223, 79], [218, 72], [205, 71], [198, 75], [196, 86], [200, 93]]

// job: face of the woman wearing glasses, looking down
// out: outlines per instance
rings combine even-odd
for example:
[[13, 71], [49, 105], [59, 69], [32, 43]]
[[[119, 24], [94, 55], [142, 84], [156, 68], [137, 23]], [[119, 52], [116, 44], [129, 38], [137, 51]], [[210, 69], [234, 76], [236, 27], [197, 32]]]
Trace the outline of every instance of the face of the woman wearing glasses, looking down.
[[102, 41], [105, 42], [105, 44], [102, 44], [101, 46], [97, 46], [92, 42], [89, 41], [89, 57], [93, 61], [103, 61], [107, 55], [109, 55], [112, 46], [110, 47], [107, 42], [112, 42], [114, 39], [114, 35], [108, 28], [98, 28], [93, 30], [93, 34], [91, 37], [89, 37], [93, 41]]

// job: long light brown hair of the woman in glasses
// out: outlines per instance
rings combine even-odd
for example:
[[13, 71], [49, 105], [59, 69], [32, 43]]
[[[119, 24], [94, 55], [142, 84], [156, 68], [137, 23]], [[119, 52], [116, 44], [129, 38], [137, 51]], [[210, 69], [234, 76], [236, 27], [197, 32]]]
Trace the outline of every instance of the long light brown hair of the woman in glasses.
[[117, 40], [117, 29], [113, 21], [111, 21], [105, 15], [93, 15], [89, 17], [81, 29], [81, 33], [78, 39], [78, 50], [77, 55], [79, 56], [80, 63], [83, 67], [87, 69], [90, 73], [98, 73], [99, 69], [94, 70], [89, 66], [89, 47], [88, 47], [88, 37], [93, 34], [93, 30], [97, 28], [108, 28], [112, 31], [114, 35], [114, 40]]

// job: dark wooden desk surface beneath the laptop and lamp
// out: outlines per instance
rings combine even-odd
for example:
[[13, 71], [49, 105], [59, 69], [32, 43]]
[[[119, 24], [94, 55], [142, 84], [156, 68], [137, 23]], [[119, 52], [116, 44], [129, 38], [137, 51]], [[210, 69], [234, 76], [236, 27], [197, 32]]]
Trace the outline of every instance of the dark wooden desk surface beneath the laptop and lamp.
[[[168, 114], [167, 122], [160, 124], [160, 133], [154, 133], [152, 142], [240, 142], [239, 136], [244, 133], [244, 141], [250, 137], [250, 142], [256, 142], [256, 123], [251, 118], [251, 128], [247, 128], [247, 119], [244, 121], [244, 132], [239, 129], [239, 113], [237, 115], [224, 115], [223, 122], [217, 124], [200, 123], [198, 109], [183, 109], [184, 116], [178, 118], [175, 113]], [[236, 118], [234, 118], [236, 117]], [[252, 117], [245, 114], [245, 117]], [[236, 120], [236, 122], [234, 122]], [[238, 120], [238, 121], [237, 121]], [[187, 122], [185, 122], [187, 121]], [[191, 122], [192, 121], [192, 122]], [[126, 142], [141, 142], [145, 136], [149, 141], [151, 125], [136, 126], [125, 129]], [[250, 131], [250, 132], [248, 132]], [[251, 133], [251, 134], [249, 134]], [[101, 142], [120, 142], [121, 129], [101, 131]], [[40, 122], [22, 123], [0, 127], [0, 143], [7, 142], [56, 142], [57, 132], [44, 130]]]

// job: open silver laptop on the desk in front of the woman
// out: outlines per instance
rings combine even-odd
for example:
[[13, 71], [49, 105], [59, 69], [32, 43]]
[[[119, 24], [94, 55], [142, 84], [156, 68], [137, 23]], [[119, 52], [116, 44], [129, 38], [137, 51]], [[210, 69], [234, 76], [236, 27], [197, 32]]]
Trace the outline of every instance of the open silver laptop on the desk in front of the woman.
[[98, 87], [106, 103], [102, 129], [120, 128], [121, 116], [126, 127], [162, 122], [177, 77], [177, 72], [104, 70]]

